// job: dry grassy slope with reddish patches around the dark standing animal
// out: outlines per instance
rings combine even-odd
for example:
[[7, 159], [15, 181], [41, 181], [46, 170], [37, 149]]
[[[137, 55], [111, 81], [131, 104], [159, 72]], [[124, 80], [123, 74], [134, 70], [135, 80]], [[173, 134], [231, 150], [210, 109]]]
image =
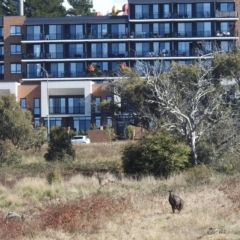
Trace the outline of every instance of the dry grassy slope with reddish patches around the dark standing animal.
[[[76, 146], [73, 163], [46, 163], [43, 147], [0, 169], [0, 239], [240, 239], [238, 175], [199, 168], [136, 181], [115, 174], [124, 144]], [[169, 189], [184, 200], [181, 213], [172, 214]]]

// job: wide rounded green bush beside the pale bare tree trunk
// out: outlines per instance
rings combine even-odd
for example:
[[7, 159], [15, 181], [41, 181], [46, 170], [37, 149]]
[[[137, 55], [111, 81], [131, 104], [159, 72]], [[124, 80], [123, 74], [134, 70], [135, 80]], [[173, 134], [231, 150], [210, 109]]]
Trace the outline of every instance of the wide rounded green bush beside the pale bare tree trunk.
[[167, 132], [160, 132], [127, 145], [122, 161], [127, 174], [168, 177], [188, 165], [189, 155], [190, 148], [186, 144]]

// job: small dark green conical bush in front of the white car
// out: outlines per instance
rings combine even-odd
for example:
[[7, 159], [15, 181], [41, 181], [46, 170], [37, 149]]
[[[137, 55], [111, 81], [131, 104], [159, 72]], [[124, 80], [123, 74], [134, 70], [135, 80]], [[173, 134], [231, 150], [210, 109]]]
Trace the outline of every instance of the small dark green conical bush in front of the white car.
[[44, 155], [46, 161], [65, 161], [74, 160], [75, 158], [75, 150], [72, 147], [70, 137], [64, 128], [59, 126], [51, 129], [47, 150], [48, 152]]

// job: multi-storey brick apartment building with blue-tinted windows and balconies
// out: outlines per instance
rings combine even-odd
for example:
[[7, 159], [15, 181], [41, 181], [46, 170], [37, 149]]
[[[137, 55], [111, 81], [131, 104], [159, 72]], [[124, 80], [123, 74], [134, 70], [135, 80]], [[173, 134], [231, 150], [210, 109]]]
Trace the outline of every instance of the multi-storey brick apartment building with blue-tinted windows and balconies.
[[[128, 14], [95, 17], [0, 18], [0, 93], [16, 94], [34, 125], [88, 130], [131, 121], [102, 114], [118, 69], [137, 60], [167, 71], [172, 61], [190, 64], [238, 40], [239, 2], [232, 0], [129, 0]], [[140, 72], [141, 74], [141, 72]], [[93, 104], [94, 103], [94, 104]]]

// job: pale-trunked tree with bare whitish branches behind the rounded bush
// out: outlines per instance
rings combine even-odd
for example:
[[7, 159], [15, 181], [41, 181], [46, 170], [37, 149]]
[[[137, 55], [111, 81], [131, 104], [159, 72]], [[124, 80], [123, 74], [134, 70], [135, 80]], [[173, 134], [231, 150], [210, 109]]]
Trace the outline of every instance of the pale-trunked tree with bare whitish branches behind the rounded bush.
[[221, 80], [213, 78], [213, 67], [203, 59], [192, 65], [173, 62], [168, 71], [163, 71], [161, 61], [155, 66], [138, 62], [137, 66], [142, 75], [138, 77], [139, 84], [141, 81], [143, 84], [142, 92], [129, 79], [129, 85], [114, 82], [114, 93], [121, 98], [122, 93], [130, 89], [129, 103], [138, 102], [138, 105], [131, 106], [136, 115], [148, 119], [149, 126], [154, 129], [163, 128], [182, 135], [191, 147], [193, 164], [197, 165], [197, 143], [214, 125], [231, 117]]

